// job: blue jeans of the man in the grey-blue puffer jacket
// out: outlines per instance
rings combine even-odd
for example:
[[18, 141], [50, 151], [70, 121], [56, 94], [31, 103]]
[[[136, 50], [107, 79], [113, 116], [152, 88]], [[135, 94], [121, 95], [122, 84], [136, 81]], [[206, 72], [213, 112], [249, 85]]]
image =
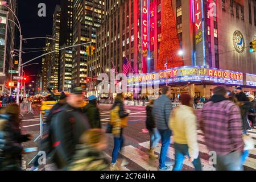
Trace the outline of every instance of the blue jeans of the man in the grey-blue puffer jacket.
[[159, 133], [161, 135], [161, 140], [162, 140], [162, 147], [161, 147], [161, 152], [160, 152], [160, 158], [159, 158], [159, 168], [164, 168], [166, 167], [166, 155], [168, 152], [168, 147], [170, 144], [170, 137], [171, 137], [171, 130], [159, 130]]

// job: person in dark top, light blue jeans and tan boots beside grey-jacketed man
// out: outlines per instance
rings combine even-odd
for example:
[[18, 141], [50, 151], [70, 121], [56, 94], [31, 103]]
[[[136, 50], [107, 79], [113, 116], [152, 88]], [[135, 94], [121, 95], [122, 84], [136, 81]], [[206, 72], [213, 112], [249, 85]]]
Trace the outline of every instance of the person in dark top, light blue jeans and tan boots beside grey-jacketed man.
[[146, 129], [150, 134], [150, 158], [158, 158], [158, 155], [155, 155], [155, 147], [157, 146], [161, 136], [158, 129], [155, 126], [155, 119], [152, 114], [152, 109], [154, 105], [154, 97], [149, 97], [149, 104], [146, 106], [147, 118], [146, 118]]

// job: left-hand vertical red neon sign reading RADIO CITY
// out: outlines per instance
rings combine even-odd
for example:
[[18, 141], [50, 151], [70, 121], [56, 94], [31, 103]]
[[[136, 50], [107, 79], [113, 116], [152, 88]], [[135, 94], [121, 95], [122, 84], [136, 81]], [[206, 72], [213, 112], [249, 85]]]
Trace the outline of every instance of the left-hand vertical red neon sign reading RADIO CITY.
[[148, 0], [142, 0], [142, 73], [147, 73], [148, 57]]

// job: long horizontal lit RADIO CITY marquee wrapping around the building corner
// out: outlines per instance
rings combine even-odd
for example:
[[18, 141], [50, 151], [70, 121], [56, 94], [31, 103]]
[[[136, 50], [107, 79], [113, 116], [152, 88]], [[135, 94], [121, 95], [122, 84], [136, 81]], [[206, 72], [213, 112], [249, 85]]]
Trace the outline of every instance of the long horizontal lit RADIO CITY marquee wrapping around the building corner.
[[[167, 79], [167, 80], [166, 80]], [[207, 67], [180, 67], [151, 74], [128, 78], [128, 86], [144, 85], [147, 82], [208, 81], [224, 84], [243, 84], [243, 73]], [[135, 84], [134, 84], [135, 83]]]

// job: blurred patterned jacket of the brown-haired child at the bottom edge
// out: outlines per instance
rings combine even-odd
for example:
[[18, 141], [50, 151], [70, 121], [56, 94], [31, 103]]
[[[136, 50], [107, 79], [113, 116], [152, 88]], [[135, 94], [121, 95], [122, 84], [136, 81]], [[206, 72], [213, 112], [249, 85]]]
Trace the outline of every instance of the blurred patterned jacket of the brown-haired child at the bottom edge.
[[106, 171], [108, 168], [109, 162], [104, 153], [85, 144], [76, 146], [76, 154], [68, 166], [69, 171]]

